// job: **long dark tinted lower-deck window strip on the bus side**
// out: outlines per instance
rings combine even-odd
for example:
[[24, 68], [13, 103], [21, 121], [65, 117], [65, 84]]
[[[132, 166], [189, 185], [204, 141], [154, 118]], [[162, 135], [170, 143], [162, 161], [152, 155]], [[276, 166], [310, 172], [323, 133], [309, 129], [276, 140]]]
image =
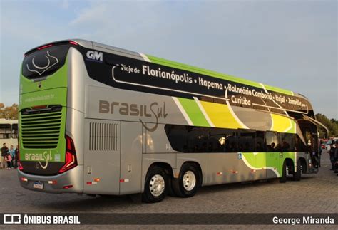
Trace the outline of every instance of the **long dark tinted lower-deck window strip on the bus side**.
[[173, 150], [178, 152], [307, 151], [292, 133], [188, 125], [165, 125], [165, 133]]

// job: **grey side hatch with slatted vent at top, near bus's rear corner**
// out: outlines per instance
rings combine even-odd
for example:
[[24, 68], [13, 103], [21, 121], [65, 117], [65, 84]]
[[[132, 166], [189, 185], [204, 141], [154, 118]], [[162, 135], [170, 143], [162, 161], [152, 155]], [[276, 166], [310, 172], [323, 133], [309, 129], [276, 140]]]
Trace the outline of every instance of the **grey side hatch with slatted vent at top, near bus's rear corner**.
[[119, 194], [121, 122], [85, 120], [83, 192]]

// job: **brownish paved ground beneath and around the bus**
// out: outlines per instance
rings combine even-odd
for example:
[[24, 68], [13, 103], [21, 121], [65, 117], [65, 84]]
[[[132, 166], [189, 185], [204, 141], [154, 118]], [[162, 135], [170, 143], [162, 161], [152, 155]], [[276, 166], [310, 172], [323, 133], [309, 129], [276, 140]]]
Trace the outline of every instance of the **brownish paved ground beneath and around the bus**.
[[318, 174], [291, 179], [203, 187], [195, 197], [144, 204], [138, 196], [88, 197], [23, 189], [16, 170], [0, 170], [1, 212], [11, 213], [337, 213], [338, 177], [322, 155]]

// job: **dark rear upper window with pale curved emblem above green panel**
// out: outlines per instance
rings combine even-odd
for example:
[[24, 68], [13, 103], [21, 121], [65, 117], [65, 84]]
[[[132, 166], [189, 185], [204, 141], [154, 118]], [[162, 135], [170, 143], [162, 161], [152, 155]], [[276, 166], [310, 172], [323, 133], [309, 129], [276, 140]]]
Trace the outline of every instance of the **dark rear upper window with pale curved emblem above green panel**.
[[69, 45], [48, 46], [24, 58], [22, 75], [29, 79], [51, 75], [66, 61]]

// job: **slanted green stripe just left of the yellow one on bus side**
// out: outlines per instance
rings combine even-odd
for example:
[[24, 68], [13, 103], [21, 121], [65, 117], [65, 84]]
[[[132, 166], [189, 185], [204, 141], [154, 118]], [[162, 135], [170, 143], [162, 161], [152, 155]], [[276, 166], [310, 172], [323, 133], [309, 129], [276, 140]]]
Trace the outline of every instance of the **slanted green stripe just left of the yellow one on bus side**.
[[193, 122], [193, 125], [210, 127], [208, 121], [205, 119], [195, 100], [186, 98], [178, 98], [178, 100], [180, 101], [180, 104], [184, 108], [185, 112], [188, 114], [190, 120]]

